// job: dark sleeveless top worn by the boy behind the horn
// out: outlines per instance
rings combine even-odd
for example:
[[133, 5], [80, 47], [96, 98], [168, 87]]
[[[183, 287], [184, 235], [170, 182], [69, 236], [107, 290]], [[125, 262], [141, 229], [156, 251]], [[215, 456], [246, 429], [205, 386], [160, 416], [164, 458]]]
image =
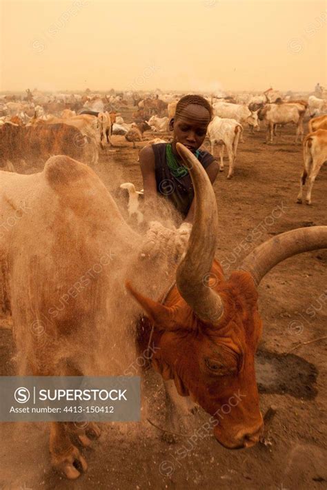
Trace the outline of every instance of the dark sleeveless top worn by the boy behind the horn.
[[[174, 177], [170, 173], [166, 161], [167, 143], [152, 145], [155, 154], [155, 179], [157, 181], [157, 192], [168, 199], [185, 218], [194, 198], [194, 189], [190, 175]], [[215, 158], [209, 152], [199, 151], [198, 160], [202, 167], [207, 168]]]

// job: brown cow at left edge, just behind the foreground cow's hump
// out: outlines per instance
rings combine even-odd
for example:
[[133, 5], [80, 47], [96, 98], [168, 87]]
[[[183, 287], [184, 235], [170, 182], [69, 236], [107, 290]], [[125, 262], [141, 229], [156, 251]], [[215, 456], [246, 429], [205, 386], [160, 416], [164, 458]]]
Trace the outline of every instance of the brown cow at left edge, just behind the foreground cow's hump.
[[51, 155], [64, 154], [86, 161], [85, 136], [76, 127], [66, 124], [0, 127], [0, 166], [7, 161], [37, 163], [43, 167]]

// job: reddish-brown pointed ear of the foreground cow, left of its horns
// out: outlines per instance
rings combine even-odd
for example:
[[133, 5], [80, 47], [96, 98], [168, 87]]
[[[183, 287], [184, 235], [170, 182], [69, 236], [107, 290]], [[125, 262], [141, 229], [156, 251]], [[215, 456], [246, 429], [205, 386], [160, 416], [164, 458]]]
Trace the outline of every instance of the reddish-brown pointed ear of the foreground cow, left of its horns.
[[174, 330], [176, 328], [173, 308], [161, 305], [161, 303], [139, 294], [129, 281], [126, 282], [126, 289], [134, 296], [156, 327], [162, 330]]

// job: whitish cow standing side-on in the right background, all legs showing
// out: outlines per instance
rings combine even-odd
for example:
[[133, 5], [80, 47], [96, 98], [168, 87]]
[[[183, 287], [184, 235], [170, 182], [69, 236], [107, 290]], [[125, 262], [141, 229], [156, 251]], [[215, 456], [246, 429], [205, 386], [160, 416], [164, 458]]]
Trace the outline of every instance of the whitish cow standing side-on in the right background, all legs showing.
[[266, 104], [264, 108], [259, 110], [259, 119], [266, 121], [267, 125], [267, 143], [270, 135], [269, 143], [273, 143], [275, 135], [275, 126], [277, 124], [294, 123], [297, 127], [295, 143], [302, 138], [304, 134], [303, 120], [306, 113], [306, 107], [301, 103], [273, 103]]

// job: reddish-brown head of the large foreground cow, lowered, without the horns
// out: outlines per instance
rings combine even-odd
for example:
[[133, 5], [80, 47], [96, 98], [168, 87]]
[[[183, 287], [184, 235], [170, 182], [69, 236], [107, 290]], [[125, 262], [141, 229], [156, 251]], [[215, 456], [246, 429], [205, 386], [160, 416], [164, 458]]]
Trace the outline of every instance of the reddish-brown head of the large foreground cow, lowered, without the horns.
[[[165, 380], [175, 380], [181, 396], [190, 394], [214, 416], [219, 422], [215, 431], [220, 431], [220, 442], [235, 447], [234, 439], [241, 429], [262, 423], [254, 366], [261, 336], [258, 295], [247, 272], [233, 272], [225, 280], [221, 266], [214, 261], [211, 273], [209, 286], [224, 303], [224, 316], [217, 325], [199, 320], [176, 286], [164, 305], [141, 296], [130, 285], [128, 289], [148, 317], [148, 323], [145, 320], [141, 325], [141, 348], [146, 348], [155, 325], [152, 366]], [[231, 408], [221, 417], [223, 406]]]

